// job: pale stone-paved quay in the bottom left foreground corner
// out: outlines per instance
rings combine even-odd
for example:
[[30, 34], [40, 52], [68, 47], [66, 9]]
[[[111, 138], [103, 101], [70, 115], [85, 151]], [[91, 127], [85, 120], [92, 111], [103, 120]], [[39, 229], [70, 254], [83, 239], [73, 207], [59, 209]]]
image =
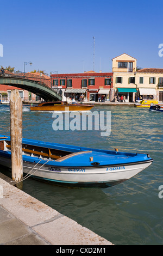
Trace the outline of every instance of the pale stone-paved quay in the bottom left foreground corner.
[[11, 185], [0, 173], [0, 245], [112, 245]]

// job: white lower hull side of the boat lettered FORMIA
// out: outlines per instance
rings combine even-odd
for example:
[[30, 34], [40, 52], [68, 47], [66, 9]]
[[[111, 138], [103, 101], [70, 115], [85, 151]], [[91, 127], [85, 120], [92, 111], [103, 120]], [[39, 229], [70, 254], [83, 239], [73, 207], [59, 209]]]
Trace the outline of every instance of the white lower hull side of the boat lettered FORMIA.
[[[142, 172], [152, 161], [134, 164], [113, 164], [104, 167], [58, 167], [51, 163], [43, 166], [23, 160], [23, 173], [34, 179], [68, 186], [114, 186]], [[11, 159], [0, 156], [0, 164], [11, 168]]]

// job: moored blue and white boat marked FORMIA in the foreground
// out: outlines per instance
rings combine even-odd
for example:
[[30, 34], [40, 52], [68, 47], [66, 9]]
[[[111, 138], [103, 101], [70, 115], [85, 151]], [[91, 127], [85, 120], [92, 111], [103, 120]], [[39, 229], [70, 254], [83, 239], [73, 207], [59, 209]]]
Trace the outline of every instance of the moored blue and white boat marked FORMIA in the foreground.
[[[150, 166], [148, 154], [22, 140], [23, 173], [68, 186], [114, 186]], [[11, 168], [10, 137], [0, 135], [0, 164]]]

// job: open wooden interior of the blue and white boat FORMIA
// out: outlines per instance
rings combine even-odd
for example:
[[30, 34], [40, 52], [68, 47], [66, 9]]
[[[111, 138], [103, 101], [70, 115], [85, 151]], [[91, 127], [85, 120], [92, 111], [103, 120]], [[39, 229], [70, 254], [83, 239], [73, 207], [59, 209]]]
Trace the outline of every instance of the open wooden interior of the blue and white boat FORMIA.
[[[11, 142], [6, 140], [7, 137], [0, 137], [0, 150], [11, 151]], [[72, 156], [91, 153], [92, 151], [64, 151], [59, 149], [52, 149], [46, 147], [39, 147], [36, 145], [22, 144], [22, 155], [30, 157], [38, 157], [39, 159], [49, 159], [54, 161], [64, 161]]]

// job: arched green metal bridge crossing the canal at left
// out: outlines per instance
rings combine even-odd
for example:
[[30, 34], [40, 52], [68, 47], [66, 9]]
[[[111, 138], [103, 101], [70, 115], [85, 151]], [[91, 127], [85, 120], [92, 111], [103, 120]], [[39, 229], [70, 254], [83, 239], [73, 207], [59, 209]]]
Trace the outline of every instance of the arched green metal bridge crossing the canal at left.
[[60, 90], [57, 87], [52, 88], [51, 78], [47, 79], [43, 75], [5, 70], [4, 75], [0, 74], [0, 84], [28, 90], [45, 101], [62, 100]]

